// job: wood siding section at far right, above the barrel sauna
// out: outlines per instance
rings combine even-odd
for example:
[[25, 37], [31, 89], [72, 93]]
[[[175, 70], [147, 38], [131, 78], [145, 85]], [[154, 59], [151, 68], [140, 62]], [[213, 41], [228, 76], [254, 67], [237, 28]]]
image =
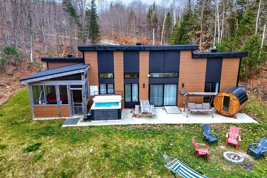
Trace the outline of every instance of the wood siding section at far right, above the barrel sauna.
[[226, 88], [236, 87], [239, 60], [239, 57], [223, 58], [220, 91], [225, 90]]

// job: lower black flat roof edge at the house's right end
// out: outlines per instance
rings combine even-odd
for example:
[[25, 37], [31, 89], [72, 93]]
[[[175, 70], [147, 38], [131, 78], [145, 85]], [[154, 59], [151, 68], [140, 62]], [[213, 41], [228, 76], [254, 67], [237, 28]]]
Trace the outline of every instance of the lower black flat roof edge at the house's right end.
[[246, 57], [249, 53], [247, 52], [204, 52], [204, 53], [193, 53], [194, 58], [200, 57]]

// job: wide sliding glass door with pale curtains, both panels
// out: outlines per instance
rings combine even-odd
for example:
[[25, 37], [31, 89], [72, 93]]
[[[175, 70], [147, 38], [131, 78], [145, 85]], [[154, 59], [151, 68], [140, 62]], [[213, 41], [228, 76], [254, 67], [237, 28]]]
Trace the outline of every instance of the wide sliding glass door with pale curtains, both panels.
[[176, 106], [177, 85], [159, 84], [150, 85], [150, 105], [154, 106]]

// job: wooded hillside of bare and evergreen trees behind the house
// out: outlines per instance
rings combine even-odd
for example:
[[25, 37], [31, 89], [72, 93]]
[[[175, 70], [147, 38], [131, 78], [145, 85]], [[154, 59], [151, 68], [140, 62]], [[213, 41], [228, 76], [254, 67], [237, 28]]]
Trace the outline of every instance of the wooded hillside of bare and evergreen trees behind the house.
[[79, 44], [198, 44], [199, 52], [213, 46], [220, 52], [247, 51], [243, 80], [266, 61], [266, 0], [3, 0], [0, 5], [2, 73], [24, 63], [40, 65], [42, 56], [81, 56]]

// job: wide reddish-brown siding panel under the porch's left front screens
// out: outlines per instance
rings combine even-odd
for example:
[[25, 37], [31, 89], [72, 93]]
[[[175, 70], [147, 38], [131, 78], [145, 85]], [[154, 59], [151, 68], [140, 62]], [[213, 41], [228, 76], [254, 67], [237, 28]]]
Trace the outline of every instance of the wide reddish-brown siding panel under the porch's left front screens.
[[35, 118], [59, 117], [58, 105], [54, 106], [33, 106]]

